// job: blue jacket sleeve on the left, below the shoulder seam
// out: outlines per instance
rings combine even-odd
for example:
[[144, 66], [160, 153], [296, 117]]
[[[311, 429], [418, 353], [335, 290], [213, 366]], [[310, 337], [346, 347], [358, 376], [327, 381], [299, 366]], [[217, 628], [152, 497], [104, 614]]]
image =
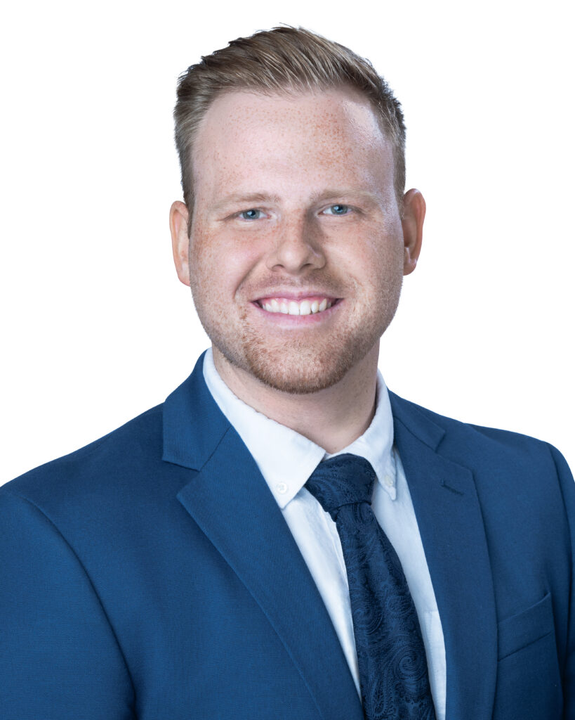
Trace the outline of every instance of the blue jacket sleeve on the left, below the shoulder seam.
[[0, 489], [0, 716], [134, 719], [134, 688], [73, 549], [36, 505]]

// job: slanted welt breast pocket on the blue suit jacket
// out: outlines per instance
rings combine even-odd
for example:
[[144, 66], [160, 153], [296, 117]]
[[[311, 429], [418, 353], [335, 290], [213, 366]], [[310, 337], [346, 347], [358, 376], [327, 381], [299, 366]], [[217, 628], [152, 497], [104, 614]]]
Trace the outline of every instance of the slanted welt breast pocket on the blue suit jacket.
[[497, 626], [498, 659], [527, 647], [533, 642], [551, 634], [553, 626], [553, 606], [551, 593], [517, 615], [502, 620]]

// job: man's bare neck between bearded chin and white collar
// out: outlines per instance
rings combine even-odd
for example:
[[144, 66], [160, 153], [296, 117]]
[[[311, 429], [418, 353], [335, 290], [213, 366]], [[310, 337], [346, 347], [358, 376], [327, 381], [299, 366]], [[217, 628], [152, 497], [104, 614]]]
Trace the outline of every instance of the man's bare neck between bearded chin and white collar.
[[372, 422], [378, 354], [379, 344], [335, 385], [303, 395], [269, 387], [232, 365], [217, 348], [213, 348], [213, 362], [221, 379], [240, 400], [334, 453], [359, 438]]

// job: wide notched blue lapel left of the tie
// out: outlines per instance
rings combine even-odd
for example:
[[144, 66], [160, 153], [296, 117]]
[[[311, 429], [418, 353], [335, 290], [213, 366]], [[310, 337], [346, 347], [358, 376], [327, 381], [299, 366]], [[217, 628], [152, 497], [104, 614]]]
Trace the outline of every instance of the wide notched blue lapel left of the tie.
[[163, 459], [198, 471], [178, 500], [262, 608], [321, 716], [362, 720], [313, 577], [254, 459], [213, 401], [202, 363], [203, 356], [164, 406]]

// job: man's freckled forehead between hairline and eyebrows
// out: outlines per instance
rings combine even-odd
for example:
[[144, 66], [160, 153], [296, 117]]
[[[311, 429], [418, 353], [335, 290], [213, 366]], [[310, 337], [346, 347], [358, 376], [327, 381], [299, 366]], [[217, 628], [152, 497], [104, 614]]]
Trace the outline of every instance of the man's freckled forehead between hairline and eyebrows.
[[297, 177], [313, 186], [334, 182], [342, 172], [349, 181], [381, 183], [382, 175], [392, 176], [390, 141], [369, 101], [352, 89], [223, 94], [201, 121], [192, 158], [196, 194], [254, 176]]

